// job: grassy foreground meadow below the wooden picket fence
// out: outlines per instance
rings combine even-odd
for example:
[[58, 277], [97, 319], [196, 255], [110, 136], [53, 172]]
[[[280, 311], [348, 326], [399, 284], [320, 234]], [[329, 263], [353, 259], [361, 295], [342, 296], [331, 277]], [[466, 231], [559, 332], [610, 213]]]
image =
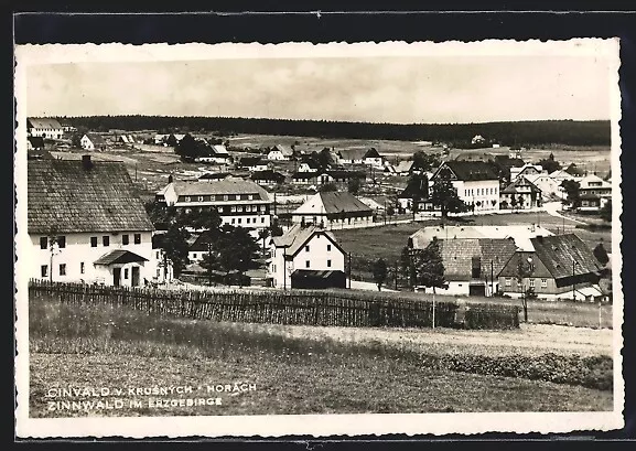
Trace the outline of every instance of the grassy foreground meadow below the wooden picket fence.
[[[612, 409], [608, 331], [238, 324], [54, 301], [32, 302], [29, 321], [31, 417]], [[206, 386], [234, 383], [257, 388], [214, 395], [220, 406], [157, 408], [131, 395], [121, 409], [48, 410], [52, 388], [191, 386], [187, 396], [208, 397]]]

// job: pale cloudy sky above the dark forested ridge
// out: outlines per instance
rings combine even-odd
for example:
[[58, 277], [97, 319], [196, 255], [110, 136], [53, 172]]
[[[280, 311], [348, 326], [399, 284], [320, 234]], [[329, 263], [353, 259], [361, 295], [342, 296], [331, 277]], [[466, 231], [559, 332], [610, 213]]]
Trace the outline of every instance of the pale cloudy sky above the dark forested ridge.
[[29, 116], [160, 115], [395, 124], [610, 119], [594, 55], [82, 62], [26, 68]]

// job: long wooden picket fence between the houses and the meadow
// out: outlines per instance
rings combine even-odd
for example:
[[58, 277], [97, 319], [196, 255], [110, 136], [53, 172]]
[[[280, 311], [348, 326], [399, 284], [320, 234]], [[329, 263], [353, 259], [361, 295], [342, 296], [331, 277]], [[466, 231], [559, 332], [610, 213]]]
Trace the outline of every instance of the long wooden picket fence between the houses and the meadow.
[[[197, 291], [31, 280], [30, 302], [127, 307], [162, 316], [228, 322], [430, 327], [432, 303], [374, 293], [311, 290]], [[435, 302], [435, 326], [456, 326], [457, 304]]]

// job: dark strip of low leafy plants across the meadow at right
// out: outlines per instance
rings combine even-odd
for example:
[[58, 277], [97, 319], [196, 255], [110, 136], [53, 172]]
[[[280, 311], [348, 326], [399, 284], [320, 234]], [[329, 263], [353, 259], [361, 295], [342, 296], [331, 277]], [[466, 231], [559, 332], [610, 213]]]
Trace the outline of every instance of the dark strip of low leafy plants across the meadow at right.
[[422, 355], [422, 364], [460, 373], [517, 377], [557, 384], [580, 385], [599, 390], [613, 389], [613, 361], [610, 356], [543, 354], [540, 356]]

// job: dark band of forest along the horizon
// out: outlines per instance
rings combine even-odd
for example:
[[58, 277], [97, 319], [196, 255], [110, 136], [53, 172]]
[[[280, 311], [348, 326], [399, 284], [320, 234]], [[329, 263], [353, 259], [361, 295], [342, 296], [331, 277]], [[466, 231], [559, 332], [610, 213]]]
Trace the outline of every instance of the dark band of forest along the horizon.
[[477, 135], [502, 146], [610, 146], [608, 120], [541, 120], [485, 124], [368, 124], [328, 120], [255, 119], [228, 117], [90, 116], [61, 118], [75, 127], [94, 131], [157, 130], [170, 132], [215, 132], [278, 135], [316, 138], [427, 140], [453, 147], [470, 147]]

